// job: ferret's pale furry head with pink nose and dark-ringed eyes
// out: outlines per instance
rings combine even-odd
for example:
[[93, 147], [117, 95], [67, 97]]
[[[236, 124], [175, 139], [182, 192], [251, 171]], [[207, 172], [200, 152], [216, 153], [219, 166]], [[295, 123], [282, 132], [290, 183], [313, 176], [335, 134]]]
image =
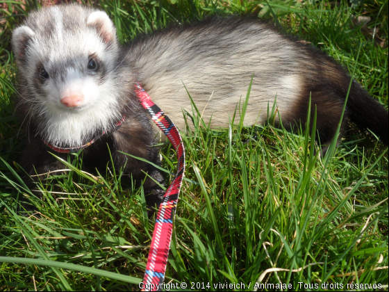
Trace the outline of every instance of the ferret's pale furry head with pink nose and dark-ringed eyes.
[[77, 5], [44, 8], [15, 29], [12, 42], [21, 106], [49, 143], [82, 145], [120, 119], [119, 46], [106, 13]]

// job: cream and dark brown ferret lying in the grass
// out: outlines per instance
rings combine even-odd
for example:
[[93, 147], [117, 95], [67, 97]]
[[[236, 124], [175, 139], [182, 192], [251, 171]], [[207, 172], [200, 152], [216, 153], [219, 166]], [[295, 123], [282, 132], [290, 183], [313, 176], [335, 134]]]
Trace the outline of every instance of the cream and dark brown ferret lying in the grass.
[[[228, 125], [254, 74], [244, 124], [266, 122], [276, 98], [275, 124], [281, 117], [283, 127], [292, 129], [306, 122], [311, 97], [325, 147], [336, 134], [351, 81], [319, 49], [252, 18], [213, 17], [122, 46], [103, 11], [51, 6], [31, 13], [13, 31], [12, 44], [19, 68], [17, 111], [28, 136], [21, 165], [29, 175], [63, 168], [48, 145], [79, 147], [95, 139], [83, 151], [85, 167], [105, 167], [112, 154], [115, 168], [127, 175], [140, 181], [147, 172], [162, 183], [153, 165], [120, 153], [159, 164], [155, 129], [135, 95], [136, 83], [179, 129], [185, 127], [182, 109], [192, 111], [188, 92], [210, 127], [220, 128]], [[356, 81], [341, 134], [348, 119], [388, 145], [388, 111]], [[147, 203], [158, 205], [163, 190], [153, 179], [144, 188], [151, 194]]]

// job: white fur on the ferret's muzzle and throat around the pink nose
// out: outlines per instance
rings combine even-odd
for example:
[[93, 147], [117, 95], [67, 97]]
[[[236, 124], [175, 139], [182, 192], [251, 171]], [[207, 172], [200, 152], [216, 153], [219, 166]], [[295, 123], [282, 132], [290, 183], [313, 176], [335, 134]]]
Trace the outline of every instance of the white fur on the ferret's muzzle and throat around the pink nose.
[[[112, 83], [102, 86], [93, 76], [68, 69], [65, 82], [50, 81], [47, 88], [47, 122], [42, 124], [45, 138], [55, 145], [76, 147], [88, 142], [97, 129], [107, 131], [119, 120], [117, 99], [113, 98]], [[67, 94], [83, 95], [81, 106], [67, 108], [60, 99]]]

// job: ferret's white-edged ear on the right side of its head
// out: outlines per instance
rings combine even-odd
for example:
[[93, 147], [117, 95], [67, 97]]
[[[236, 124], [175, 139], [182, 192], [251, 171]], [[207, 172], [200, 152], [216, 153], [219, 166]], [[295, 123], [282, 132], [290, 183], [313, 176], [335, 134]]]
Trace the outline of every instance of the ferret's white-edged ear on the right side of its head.
[[94, 13], [90, 13], [86, 24], [88, 26], [94, 26], [106, 44], [115, 40], [115, 26], [105, 12], [95, 11]]

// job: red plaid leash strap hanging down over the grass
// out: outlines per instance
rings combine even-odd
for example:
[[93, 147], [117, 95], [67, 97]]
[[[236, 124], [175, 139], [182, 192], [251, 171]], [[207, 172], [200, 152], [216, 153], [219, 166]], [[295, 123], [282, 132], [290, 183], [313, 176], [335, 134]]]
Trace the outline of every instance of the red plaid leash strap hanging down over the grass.
[[150, 96], [138, 83], [135, 84], [135, 93], [151, 119], [173, 144], [178, 159], [176, 177], [167, 188], [163, 202], [158, 209], [146, 272], [144, 273], [144, 289], [142, 291], [156, 291], [159, 284], [163, 284], [165, 279], [167, 257], [169, 257], [170, 241], [172, 241], [173, 219], [185, 171], [185, 149], [179, 130], [169, 117], [151, 101]]

